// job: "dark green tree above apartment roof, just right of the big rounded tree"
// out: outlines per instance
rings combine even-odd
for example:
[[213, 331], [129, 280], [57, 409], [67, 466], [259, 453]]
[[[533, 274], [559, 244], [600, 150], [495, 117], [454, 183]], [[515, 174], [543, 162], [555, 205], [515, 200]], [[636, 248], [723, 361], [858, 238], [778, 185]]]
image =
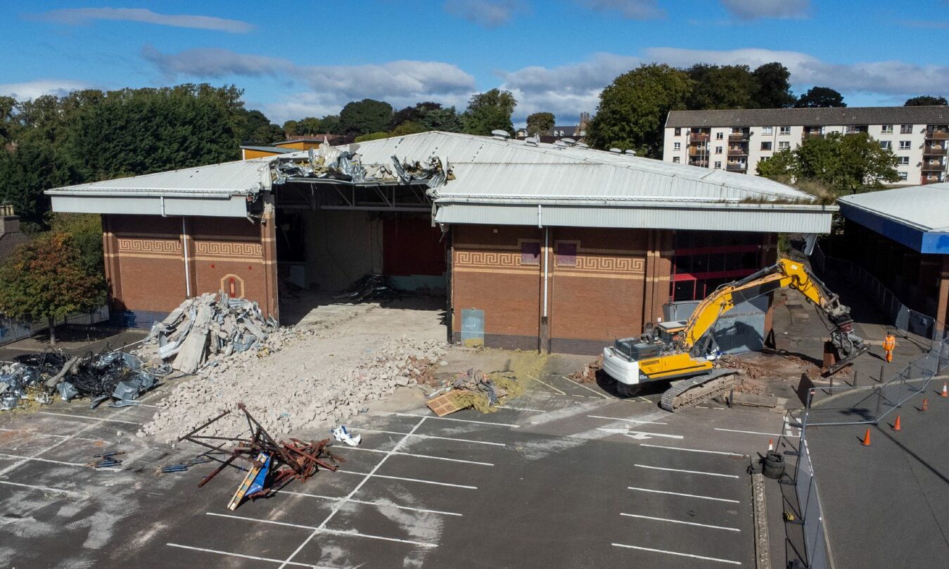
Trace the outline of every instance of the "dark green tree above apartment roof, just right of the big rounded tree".
[[693, 110], [753, 108], [758, 85], [748, 65], [695, 64], [686, 71], [692, 91], [686, 106]]

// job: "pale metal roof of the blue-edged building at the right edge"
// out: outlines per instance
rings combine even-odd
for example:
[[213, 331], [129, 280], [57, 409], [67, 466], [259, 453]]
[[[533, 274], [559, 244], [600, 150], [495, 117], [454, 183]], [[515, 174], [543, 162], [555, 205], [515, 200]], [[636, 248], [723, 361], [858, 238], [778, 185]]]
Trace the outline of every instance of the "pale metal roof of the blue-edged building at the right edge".
[[855, 193], [840, 201], [922, 231], [949, 232], [949, 182]]

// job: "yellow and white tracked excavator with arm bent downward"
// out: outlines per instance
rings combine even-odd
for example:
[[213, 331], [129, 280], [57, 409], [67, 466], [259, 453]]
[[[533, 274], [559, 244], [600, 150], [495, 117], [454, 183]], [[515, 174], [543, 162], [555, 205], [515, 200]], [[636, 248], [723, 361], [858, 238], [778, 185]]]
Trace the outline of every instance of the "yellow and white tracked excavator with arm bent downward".
[[830, 327], [830, 343], [836, 351], [832, 374], [863, 354], [869, 346], [853, 333], [850, 309], [837, 295], [810, 274], [808, 268], [789, 259], [780, 259], [734, 283], [722, 284], [698, 303], [688, 321], [648, 325], [640, 338], [616, 340], [603, 351], [603, 369], [616, 380], [621, 395], [633, 395], [639, 385], [672, 380], [662, 394], [661, 407], [676, 411], [696, 405], [735, 383], [737, 370], [716, 368], [721, 355], [709, 331], [716, 321], [736, 304], [750, 301], [778, 288], [789, 287], [821, 309]]

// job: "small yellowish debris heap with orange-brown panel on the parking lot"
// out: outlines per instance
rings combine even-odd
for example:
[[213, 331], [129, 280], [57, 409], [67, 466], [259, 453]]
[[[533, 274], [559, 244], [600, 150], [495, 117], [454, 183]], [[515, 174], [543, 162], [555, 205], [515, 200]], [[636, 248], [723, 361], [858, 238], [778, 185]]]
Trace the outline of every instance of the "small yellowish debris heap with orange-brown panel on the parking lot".
[[493, 413], [507, 397], [524, 393], [512, 372], [485, 374], [470, 369], [455, 376], [437, 391], [428, 395], [428, 408], [439, 417], [474, 407], [480, 413]]

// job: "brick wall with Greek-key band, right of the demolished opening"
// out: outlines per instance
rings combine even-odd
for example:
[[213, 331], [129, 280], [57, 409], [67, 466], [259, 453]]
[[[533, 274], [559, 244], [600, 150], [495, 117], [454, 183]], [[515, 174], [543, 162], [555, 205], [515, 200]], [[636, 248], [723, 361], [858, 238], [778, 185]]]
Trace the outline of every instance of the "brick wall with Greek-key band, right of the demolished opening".
[[[487, 346], [530, 350], [541, 347], [574, 354], [598, 353], [605, 344], [638, 336], [646, 323], [661, 319], [662, 305], [671, 300], [673, 231], [548, 230], [545, 321], [545, 229], [471, 225], [453, 228], [454, 340], [461, 340], [462, 310], [466, 308], [484, 311]], [[760, 245], [754, 246], [754, 266], [743, 274], [773, 263], [776, 253], [772, 234], [748, 237]], [[708, 245], [714, 248], [716, 244]], [[723, 248], [725, 252], [721, 254], [734, 254], [734, 248]], [[770, 327], [770, 318], [766, 326]]]

